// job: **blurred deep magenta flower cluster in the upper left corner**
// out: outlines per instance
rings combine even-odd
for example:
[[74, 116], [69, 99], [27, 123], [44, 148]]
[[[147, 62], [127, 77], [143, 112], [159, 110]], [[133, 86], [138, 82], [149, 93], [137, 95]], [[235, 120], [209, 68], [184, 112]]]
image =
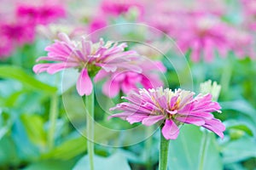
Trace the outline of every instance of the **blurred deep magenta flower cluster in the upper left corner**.
[[[65, 16], [60, 5], [15, 3], [14, 11], [0, 12], [0, 58], [8, 57], [16, 47], [32, 43], [38, 24], [47, 25]], [[6, 8], [10, 8], [7, 6]]]

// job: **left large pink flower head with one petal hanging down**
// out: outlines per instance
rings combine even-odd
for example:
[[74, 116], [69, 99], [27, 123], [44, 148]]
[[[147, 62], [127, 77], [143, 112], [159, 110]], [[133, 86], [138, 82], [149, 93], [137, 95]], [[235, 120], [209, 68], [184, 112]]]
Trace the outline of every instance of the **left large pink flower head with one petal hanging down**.
[[139, 56], [135, 51], [124, 51], [125, 43], [114, 42], [92, 43], [84, 38], [81, 41], [72, 41], [66, 34], [59, 34], [60, 40], [45, 48], [48, 56], [38, 60], [56, 61], [51, 63], [38, 64], [33, 71], [40, 73], [47, 71], [49, 74], [67, 69], [79, 69], [80, 75], [77, 82], [77, 90], [80, 95], [89, 95], [92, 91], [90, 77], [94, 77], [98, 71], [116, 71], [118, 68], [141, 71], [141, 68], [131, 63]]

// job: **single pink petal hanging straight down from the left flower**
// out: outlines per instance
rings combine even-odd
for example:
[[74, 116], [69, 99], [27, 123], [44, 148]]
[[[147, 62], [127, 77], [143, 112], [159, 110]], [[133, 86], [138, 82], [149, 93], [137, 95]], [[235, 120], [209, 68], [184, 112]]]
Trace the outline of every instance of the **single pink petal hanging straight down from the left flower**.
[[79, 80], [77, 82], [77, 90], [80, 96], [85, 95], [90, 95], [91, 91], [92, 91], [93, 85], [92, 82], [90, 80], [90, 77], [88, 75], [88, 71], [87, 69], [83, 69], [80, 72], [79, 75]]

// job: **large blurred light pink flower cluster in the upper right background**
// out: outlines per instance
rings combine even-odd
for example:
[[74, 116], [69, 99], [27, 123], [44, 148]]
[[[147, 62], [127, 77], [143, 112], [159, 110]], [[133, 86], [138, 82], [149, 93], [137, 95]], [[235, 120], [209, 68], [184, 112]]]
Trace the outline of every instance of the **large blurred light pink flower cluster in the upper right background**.
[[252, 50], [247, 53], [248, 47], [253, 49], [251, 35], [242, 31], [242, 26], [237, 28], [221, 20], [224, 6], [224, 2], [218, 0], [215, 3], [208, 0], [198, 3], [161, 1], [152, 9], [156, 12], [149, 13], [145, 21], [173, 37], [183, 53], [190, 49], [195, 62], [201, 59], [210, 62], [215, 52], [221, 57], [226, 57], [230, 51], [239, 58], [253, 57]]

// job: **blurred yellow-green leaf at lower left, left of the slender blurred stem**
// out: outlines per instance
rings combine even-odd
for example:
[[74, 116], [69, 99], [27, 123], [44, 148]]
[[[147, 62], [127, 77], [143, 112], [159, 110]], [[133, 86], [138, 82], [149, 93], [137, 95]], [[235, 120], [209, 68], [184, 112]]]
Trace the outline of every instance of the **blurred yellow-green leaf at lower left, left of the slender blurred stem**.
[[41, 116], [26, 115], [20, 116], [21, 122], [26, 128], [28, 138], [34, 144], [45, 147], [47, 143], [46, 133], [44, 131], [44, 120]]

